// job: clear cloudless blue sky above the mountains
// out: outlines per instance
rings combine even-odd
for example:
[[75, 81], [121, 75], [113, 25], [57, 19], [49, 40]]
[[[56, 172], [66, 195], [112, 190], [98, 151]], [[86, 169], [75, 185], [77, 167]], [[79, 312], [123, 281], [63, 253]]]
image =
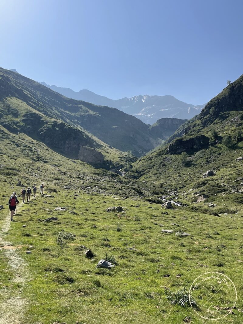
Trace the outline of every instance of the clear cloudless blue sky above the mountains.
[[203, 104], [243, 74], [242, 0], [1, 0], [0, 66], [118, 99]]

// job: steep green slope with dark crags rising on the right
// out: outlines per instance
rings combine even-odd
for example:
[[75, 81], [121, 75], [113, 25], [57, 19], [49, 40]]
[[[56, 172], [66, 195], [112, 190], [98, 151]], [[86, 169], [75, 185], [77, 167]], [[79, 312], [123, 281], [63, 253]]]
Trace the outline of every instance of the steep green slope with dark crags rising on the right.
[[[158, 188], [177, 188], [181, 193], [193, 188], [208, 194], [211, 201], [222, 189], [233, 194], [228, 186], [240, 191], [241, 185], [234, 181], [243, 172], [242, 162], [236, 160], [243, 155], [242, 121], [243, 75], [198, 116], [182, 124], [165, 145], [135, 162], [128, 176], [156, 183]], [[182, 152], [189, 156], [180, 156]], [[203, 180], [209, 169], [214, 170], [214, 177]], [[218, 188], [212, 190], [215, 197], [208, 193], [208, 186]]]

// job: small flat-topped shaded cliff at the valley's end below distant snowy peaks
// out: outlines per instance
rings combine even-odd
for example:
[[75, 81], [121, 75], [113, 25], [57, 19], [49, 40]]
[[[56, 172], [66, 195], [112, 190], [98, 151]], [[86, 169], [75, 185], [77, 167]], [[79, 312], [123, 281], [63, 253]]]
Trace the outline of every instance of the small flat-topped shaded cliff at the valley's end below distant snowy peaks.
[[175, 133], [180, 125], [186, 121], [187, 119], [161, 118], [149, 127], [149, 133], [153, 136], [166, 140], [169, 136]]

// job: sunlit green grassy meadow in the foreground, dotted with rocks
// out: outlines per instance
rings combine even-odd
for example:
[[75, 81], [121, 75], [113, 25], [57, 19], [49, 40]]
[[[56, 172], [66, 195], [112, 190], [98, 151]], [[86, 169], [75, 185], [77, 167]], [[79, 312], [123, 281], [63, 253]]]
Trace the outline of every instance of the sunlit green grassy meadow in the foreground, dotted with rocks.
[[[107, 213], [113, 205], [125, 213]], [[55, 211], [58, 206], [66, 210]], [[242, 211], [221, 217], [183, 208], [165, 211], [141, 199], [60, 188], [21, 206], [9, 226], [5, 205], [0, 322], [207, 323], [191, 307], [171, 305], [166, 292], [189, 289], [197, 276], [220, 271], [238, 293], [233, 314], [220, 323], [242, 323]], [[43, 221], [49, 217], [58, 220]], [[177, 237], [179, 229], [191, 235]], [[58, 245], [62, 231], [75, 237]], [[93, 259], [84, 256], [83, 245]], [[97, 269], [106, 254], [114, 256], [116, 266]]]

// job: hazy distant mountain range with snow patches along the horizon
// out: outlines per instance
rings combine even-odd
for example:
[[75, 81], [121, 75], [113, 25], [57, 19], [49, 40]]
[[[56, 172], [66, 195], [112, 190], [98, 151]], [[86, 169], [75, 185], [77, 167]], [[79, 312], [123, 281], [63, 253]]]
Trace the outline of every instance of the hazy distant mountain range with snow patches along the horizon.
[[115, 107], [128, 114], [134, 115], [146, 124], [153, 124], [161, 118], [179, 118], [191, 119], [199, 114], [205, 105], [191, 105], [176, 99], [173, 96], [149, 96], [139, 95], [132, 98], [121, 98], [112, 100], [110, 98], [100, 96], [89, 90], [80, 90], [75, 92], [70, 88], [50, 86], [45, 82], [42, 85], [61, 93], [62, 95], [92, 102], [96, 105], [105, 105]]

